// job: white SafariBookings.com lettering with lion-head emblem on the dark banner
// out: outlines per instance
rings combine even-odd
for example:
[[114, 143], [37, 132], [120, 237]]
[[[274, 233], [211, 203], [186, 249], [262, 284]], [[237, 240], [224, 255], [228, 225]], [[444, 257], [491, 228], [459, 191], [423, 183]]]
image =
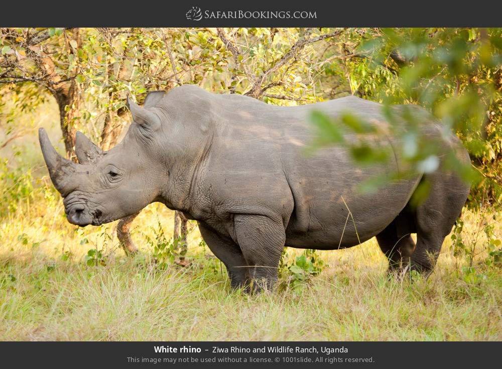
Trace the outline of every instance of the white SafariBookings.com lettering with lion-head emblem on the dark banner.
[[315, 11], [210, 11], [202, 12], [199, 7], [192, 7], [186, 15], [190, 21], [204, 19], [316, 19]]

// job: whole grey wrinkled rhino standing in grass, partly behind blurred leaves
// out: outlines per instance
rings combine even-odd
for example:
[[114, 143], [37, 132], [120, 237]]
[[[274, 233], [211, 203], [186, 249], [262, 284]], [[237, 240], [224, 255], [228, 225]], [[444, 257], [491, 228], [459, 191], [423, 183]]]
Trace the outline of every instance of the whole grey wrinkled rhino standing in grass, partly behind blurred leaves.
[[[469, 191], [456, 175], [437, 170], [425, 175], [432, 185], [429, 198], [413, 209], [408, 203], [424, 175], [372, 194], [356, 191], [362, 181], [398, 171], [397, 155], [385, 166], [362, 169], [340, 146], [306, 156], [315, 137], [308, 119], [313, 108], [331, 116], [349, 111], [385, 127], [381, 105], [357, 97], [279, 107], [185, 85], [150, 93], [143, 108], [129, 104], [134, 122], [110, 151], [78, 134], [80, 164], [57, 155], [41, 129], [44, 158], [68, 220], [99, 225], [162, 202], [197, 220], [234, 288], [272, 288], [285, 245], [335, 250], [373, 236], [391, 268], [410, 262], [412, 269], [429, 272]], [[416, 109], [427, 117], [424, 132], [440, 138], [437, 122]], [[388, 137], [372, 140], [399, 144]], [[453, 134], [441, 140], [469, 160]], [[347, 208], [357, 232], [351, 219], [345, 226]], [[416, 245], [410, 233], [417, 233]]]

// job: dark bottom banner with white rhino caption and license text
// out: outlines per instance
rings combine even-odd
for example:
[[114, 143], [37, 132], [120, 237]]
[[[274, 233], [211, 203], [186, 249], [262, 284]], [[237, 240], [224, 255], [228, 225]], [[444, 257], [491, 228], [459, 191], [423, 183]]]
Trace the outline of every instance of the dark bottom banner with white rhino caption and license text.
[[5, 368], [485, 367], [496, 365], [500, 349], [500, 342], [0, 342], [0, 363]]

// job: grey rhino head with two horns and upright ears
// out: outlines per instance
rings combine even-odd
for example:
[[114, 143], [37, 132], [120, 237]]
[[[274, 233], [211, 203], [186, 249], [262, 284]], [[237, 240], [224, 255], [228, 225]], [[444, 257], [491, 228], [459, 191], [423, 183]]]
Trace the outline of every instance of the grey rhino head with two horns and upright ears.
[[[157, 92], [152, 94], [147, 98], [162, 98]], [[79, 163], [59, 155], [45, 130], [39, 130], [49, 175], [64, 198], [65, 213], [72, 224], [100, 225], [120, 219], [159, 201], [162, 195], [169, 172], [160, 142], [165, 136], [161, 121], [166, 112], [158, 107], [149, 108], [147, 101], [145, 107], [140, 107], [128, 99], [128, 105], [133, 124], [111, 150], [103, 152], [77, 132], [75, 153]]]

